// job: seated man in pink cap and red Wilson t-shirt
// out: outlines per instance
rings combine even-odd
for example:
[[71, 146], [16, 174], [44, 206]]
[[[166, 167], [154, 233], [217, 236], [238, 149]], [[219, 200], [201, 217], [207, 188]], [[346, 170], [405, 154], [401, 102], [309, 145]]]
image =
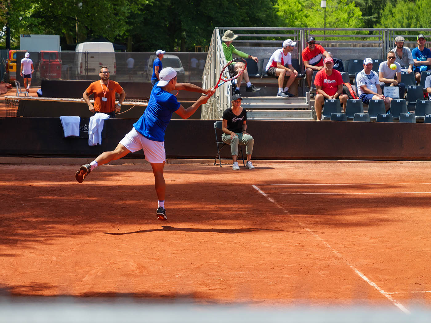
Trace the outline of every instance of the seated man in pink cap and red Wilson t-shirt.
[[320, 121], [320, 118], [322, 117], [322, 108], [325, 98], [340, 99], [344, 111], [346, 111], [346, 103], [349, 98], [346, 94], [343, 94], [343, 77], [339, 71], [333, 68], [333, 59], [331, 57], [327, 57], [323, 62], [325, 68], [317, 72], [314, 79], [314, 85], [317, 89], [314, 108], [318, 121]]

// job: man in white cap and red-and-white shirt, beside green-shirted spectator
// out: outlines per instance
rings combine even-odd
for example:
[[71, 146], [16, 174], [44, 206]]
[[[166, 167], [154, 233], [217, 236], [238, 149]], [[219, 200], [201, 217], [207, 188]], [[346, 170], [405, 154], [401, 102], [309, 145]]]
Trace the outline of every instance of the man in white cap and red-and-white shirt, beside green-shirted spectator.
[[[278, 92], [277, 96], [280, 98], [288, 98], [294, 96], [289, 93], [289, 87], [294, 83], [295, 78], [298, 76], [298, 72], [292, 66], [292, 55], [290, 52], [294, 49], [297, 42], [291, 39], [286, 39], [283, 42], [283, 48], [277, 49], [272, 53], [269, 62], [265, 67], [266, 74], [278, 78]], [[287, 67], [286, 67], [287, 65]], [[286, 86], [283, 89], [284, 77], [288, 76]]]

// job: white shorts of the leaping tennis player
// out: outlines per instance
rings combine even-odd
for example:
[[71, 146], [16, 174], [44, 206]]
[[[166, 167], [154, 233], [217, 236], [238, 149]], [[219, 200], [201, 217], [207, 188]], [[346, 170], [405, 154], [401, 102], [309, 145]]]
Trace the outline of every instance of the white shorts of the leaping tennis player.
[[150, 140], [141, 135], [134, 128], [121, 139], [120, 144], [132, 153], [143, 149], [145, 160], [149, 163], [163, 163], [166, 160], [165, 142]]

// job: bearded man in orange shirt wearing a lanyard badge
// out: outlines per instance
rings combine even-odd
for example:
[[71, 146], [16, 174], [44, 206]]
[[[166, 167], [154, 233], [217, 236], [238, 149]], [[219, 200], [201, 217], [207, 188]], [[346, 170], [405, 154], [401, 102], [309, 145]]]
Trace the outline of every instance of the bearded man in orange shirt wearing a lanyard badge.
[[[87, 102], [91, 112], [103, 112], [109, 114], [109, 117], [115, 118], [115, 113], [121, 111], [121, 104], [126, 97], [126, 93], [120, 84], [116, 81], [109, 80], [109, 68], [102, 66], [100, 68], [100, 80], [93, 82], [84, 91], [82, 97]], [[94, 93], [94, 106], [90, 102], [89, 95]], [[120, 99], [115, 104], [115, 93], [120, 94]]]

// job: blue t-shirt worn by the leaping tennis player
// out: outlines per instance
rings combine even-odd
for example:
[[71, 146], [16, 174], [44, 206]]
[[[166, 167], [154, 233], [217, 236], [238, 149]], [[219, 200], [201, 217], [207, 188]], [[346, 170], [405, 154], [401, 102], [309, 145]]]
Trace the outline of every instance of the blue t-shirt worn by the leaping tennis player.
[[150, 100], [144, 114], [133, 124], [137, 132], [155, 142], [165, 141], [165, 130], [172, 114], [180, 107], [177, 97], [158, 87], [151, 90]]

